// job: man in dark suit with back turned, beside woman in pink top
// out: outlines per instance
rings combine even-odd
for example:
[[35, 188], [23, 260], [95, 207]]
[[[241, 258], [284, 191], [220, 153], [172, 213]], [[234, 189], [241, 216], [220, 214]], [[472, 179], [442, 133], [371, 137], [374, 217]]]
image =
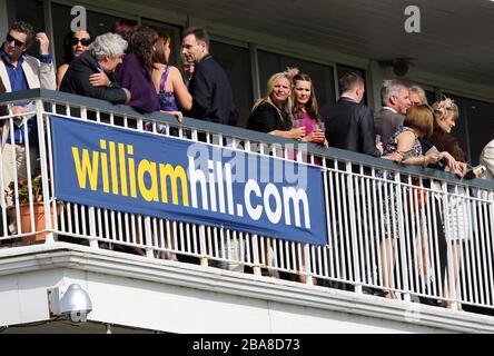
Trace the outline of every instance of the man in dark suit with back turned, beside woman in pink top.
[[326, 119], [326, 139], [330, 147], [381, 157], [383, 146], [376, 145], [370, 109], [360, 103], [364, 79], [354, 72], [339, 79], [342, 96]]

